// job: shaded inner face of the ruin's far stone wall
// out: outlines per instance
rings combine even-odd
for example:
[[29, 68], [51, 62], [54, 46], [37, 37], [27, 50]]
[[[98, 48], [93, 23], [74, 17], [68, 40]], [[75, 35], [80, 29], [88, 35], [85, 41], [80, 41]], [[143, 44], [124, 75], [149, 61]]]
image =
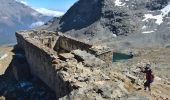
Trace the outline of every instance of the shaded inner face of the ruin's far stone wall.
[[67, 50], [67, 51], [80, 49], [80, 50], [85, 50], [88, 53], [91, 53], [104, 61], [110, 60], [112, 58], [111, 51], [104, 51], [104, 52], [98, 53], [98, 51], [91, 49], [91, 47], [92, 45], [81, 42], [79, 40], [76, 40], [76, 39], [73, 39], [67, 36], [60, 36], [58, 39], [58, 42], [54, 46], [54, 50], [58, 51], [60, 48]]

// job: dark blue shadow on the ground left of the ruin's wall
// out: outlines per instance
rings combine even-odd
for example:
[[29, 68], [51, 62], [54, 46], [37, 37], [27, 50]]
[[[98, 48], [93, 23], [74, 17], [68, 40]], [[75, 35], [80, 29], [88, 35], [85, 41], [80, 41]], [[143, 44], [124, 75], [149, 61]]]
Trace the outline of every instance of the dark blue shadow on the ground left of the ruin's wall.
[[5, 100], [55, 100], [55, 93], [32, 76], [24, 52], [17, 46], [4, 75], [0, 76], [0, 96]]

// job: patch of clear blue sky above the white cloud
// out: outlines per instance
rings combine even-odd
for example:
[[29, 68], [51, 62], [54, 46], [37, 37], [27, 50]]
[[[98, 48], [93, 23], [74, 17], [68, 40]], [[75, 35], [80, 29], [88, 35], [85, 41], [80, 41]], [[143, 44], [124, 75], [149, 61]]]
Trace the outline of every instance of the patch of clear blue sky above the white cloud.
[[66, 12], [78, 0], [18, 0], [36, 8], [47, 8]]

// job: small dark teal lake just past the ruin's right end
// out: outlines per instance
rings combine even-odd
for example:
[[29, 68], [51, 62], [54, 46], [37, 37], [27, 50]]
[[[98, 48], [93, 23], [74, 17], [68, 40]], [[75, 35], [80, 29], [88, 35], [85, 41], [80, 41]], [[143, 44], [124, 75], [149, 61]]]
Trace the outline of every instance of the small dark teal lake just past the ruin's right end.
[[113, 57], [112, 60], [113, 62], [120, 61], [120, 60], [128, 60], [132, 59], [132, 55], [126, 54], [126, 53], [121, 53], [121, 52], [113, 52]]

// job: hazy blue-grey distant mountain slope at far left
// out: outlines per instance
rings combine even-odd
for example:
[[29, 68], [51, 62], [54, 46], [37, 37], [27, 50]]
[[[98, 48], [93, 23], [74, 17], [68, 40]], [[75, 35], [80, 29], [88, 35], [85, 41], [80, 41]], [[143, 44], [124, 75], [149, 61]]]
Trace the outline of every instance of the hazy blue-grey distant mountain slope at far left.
[[0, 0], [0, 44], [15, 43], [15, 31], [42, 25], [50, 18], [15, 0]]

